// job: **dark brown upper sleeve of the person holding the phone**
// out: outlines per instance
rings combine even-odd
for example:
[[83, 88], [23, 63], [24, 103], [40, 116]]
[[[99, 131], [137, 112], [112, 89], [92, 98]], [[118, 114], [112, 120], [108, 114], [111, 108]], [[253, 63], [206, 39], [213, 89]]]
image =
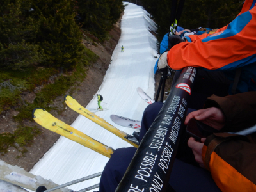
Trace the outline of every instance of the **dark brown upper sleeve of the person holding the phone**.
[[212, 95], [205, 102], [204, 108], [220, 108], [226, 125], [223, 132], [236, 132], [256, 124], [256, 92], [245, 92], [226, 97]]

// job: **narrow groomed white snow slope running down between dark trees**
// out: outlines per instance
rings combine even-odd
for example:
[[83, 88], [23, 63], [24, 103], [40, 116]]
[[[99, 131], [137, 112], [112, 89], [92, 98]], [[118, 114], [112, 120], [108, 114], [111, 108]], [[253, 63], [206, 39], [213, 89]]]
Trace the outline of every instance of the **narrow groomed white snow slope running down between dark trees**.
[[[104, 97], [103, 102], [108, 103], [102, 103], [102, 107], [107, 106], [110, 109], [100, 111], [97, 115], [118, 129], [132, 134], [134, 129], [113, 123], [110, 120], [110, 115], [116, 114], [141, 120], [143, 110], [148, 104], [140, 98], [136, 88], [140, 86], [150, 97], [154, 97], [154, 64], [156, 63], [154, 56], [158, 55], [156, 38], [148, 31], [156, 29], [154, 22], [141, 6], [126, 2], [125, 4], [128, 6], [125, 6], [122, 17], [122, 35], [98, 91]], [[124, 52], [121, 52], [122, 45]], [[86, 106], [87, 109], [97, 108], [96, 96]], [[76, 97], [74, 98], [76, 99]], [[71, 126], [114, 149], [131, 146], [81, 115]], [[49, 152], [38, 161], [31, 173], [51, 179], [57, 184], [64, 184], [93, 173], [102, 172], [107, 161], [108, 157], [61, 136]], [[97, 177], [69, 188], [78, 191], [99, 183], [99, 180], [100, 177]]]

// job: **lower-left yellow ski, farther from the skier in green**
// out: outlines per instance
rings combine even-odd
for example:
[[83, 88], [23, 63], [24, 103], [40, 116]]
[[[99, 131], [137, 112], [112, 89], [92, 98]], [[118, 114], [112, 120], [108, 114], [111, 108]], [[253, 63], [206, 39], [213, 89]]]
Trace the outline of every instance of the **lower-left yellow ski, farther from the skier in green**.
[[100, 143], [99, 141], [93, 140], [93, 138], [87, 136], [83, 132], [78, 131], [74, 127], [71, 127], [64, 122], [61, 122], [61, 120], [52, 116], [50, 113], [45, 111], [45, 109], [33, 109], [32, 116], [35, 122], [42, 127], [65, 136], [66, 138], [84, 145], [85, 147], [88, 147], [106, 157], [110, 158], [111, 154], [114, 152], [112, 148]]

